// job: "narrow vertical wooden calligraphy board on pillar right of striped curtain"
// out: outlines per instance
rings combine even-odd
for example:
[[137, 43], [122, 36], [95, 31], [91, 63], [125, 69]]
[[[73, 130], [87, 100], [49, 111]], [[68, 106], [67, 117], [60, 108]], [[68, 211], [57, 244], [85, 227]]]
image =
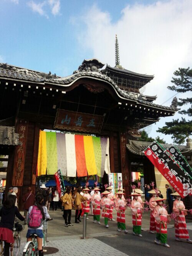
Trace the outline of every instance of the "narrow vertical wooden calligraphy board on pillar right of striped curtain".
[[129, 193], [131, 192], [130, 185], [131, 185], [131, 173], [130, 173], [130, 165], [127, 150], [126, 150], [126, 143], [127, 143], [127, 136], [126, 132], [120, 132], [120, 153], [121, 153], [121, 173], [122, 173], [122, 186], [124, 188], [124, 193], [126, 193], [126, 197], [128, 197]]

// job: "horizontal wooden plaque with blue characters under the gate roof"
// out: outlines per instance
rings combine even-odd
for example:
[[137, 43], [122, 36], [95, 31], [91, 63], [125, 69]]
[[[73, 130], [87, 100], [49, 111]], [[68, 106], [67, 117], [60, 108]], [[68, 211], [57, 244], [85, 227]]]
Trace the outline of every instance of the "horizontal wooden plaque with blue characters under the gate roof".
[[69, 110], [57, 110], [54, 128], [72, 131], [100, 132], [104, 116], [74, 112]]

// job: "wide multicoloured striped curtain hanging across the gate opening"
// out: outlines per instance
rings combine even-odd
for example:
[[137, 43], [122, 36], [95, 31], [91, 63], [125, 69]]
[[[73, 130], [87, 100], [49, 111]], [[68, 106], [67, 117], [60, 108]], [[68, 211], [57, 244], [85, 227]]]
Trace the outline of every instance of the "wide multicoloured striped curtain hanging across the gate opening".
[[40, 131], [37, 176], [68, 177], [110, 173], [109, 138]]

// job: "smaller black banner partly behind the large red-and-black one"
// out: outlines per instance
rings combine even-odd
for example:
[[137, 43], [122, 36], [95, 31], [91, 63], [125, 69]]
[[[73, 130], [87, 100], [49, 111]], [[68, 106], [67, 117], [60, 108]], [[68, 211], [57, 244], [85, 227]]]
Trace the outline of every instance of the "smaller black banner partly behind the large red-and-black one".
[[190, 178], [192, 179], [192, 168], [190, 167], [189, 163], [187, 163], [179, 149], [173, 145], [168, 148], [168, 150], [174, 160], [177, 161], [177, 163], [189, 174]]

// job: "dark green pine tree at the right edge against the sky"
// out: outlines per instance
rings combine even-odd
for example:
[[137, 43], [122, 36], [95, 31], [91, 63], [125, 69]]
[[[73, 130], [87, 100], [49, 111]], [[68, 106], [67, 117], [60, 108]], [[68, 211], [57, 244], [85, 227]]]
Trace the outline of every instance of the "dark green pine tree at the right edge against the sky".
[[[179, 93], [186, 93], [192, 95], [192, 69], [190, 68], [179, 68], [174, 72], [176, 77], [173, 77], [171, 82], [174, 83], [172, 86], [167, 88], [172, 91], [177, 91]], [[173, 102], [174, 101], [174, 102]], [[172, 101], [172, 105], [175, 104], [175, 100]], [[178, 106], [183, 106], [190, 104], [190, 107], [187, 110], [179, 111], [182, 115], [192, 116], [192, 97], [191, 98], [179, 98], [177, 102]], [[181, 144], [184, 143], [185, 138], [192, 135], [192, 121], [185, 120], [185, 118], [173, 119], [171, 122], [166, 122], [166, 126], [159, 128], [157, 132], [165, 133], [166, 135], [172, 135], [174, 143]]]

